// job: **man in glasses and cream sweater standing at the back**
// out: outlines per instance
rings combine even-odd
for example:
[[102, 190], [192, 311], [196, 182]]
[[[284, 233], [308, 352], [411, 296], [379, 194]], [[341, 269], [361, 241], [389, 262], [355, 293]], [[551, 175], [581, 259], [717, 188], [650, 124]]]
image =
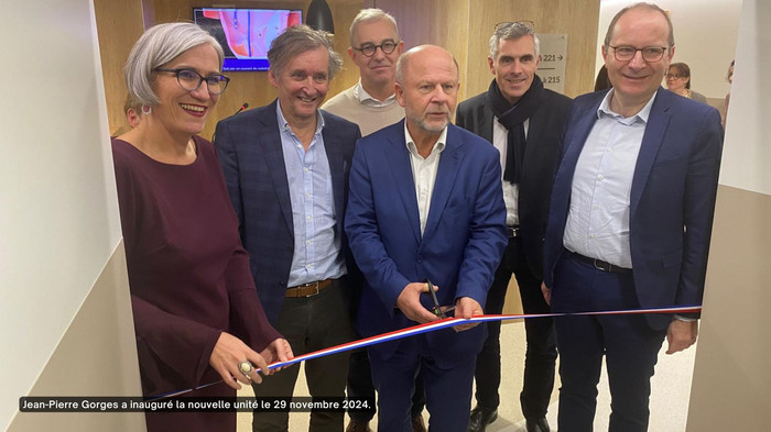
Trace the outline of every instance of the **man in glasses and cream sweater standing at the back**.
[[[404, 119], [404, 109], [397, 102], [397, 60], [404, 42], [399, 38], [397, 20], [380, 9], [362, 9], [350, 24], [348, 56], [359, 68], [359, 82], [324, 102], [322, 109], [359, 125], [363, 136]], [[358, 308], [358, 292], [354, 298]], [[356, 313], [355, 313], [356, 314]], [[374, 400], [374, 386], [367, 350], [350, 354], [348, 397]], [[413, 432], [424, 432], [423, 380], [415, 378], [412, 403]], [[350, 411], [346, 432], [368, 432], [376, 409]]]

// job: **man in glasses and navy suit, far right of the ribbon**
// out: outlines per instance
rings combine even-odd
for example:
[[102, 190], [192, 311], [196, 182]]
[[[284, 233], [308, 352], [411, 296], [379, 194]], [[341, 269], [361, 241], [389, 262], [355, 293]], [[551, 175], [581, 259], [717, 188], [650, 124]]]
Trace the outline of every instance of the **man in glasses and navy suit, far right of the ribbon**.
[[[621, 10], [602, 45], [613, 87], [575, 100], [546, 229], [544, 297], [554, 312], [702, 303], [720, 166], [720, 115], [661, 88], [672, 23], [650, 3]], [[560, 432], [591, 431], [602, 355], [612, 432], [648, 430], [650, 378], [696, 341], [697, 315], [555, 319]]]

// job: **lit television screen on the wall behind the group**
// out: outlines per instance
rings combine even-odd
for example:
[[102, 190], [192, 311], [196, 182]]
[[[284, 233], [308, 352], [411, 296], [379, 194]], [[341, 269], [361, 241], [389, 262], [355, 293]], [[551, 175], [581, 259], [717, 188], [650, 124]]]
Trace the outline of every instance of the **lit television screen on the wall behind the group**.
[[301, 10], [193, 10], [196, 24], [211, 33], [225, 51], [222, 70], [268, 70], [268, 48], [286, 27], [302, 24]]

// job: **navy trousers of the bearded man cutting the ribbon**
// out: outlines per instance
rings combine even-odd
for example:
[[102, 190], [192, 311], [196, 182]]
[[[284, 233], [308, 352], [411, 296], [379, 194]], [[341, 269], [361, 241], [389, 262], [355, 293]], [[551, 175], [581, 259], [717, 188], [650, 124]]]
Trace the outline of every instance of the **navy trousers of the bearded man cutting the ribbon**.
[[471, 407], [476, 355], [439, 366], [426, 336], [404, 339], [388, 359], [370, 357], [372, 381], [378, 389], [378, 432], [412, 432], [415, 377], [423, 377], [430, 432], [466, 432]]

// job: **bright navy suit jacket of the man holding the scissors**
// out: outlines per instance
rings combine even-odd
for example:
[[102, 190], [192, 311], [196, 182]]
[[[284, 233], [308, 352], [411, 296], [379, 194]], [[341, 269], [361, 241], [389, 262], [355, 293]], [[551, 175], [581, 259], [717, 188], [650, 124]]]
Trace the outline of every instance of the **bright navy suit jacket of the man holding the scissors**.
[[[357, 144], [346, 232], [366, 279], [357, 324], [362, 336], [415, 325], [395, 309], [397, 298], [408, 284], [426, 278], [439, 287], [441, 304], [470, 297], [485, 306], [508, 242], [500, 160], [485, 140], [447, 128], [423, 235], [404, 120]], [[433, 306], [428, 295], [422, 297], [426, 308]], [[452, 363], [479, 352], [485, 329], [447, 329], [426, 337], [433, 353]], [[398, 342], [377, 345], [370, 355], [388, 358]]]

